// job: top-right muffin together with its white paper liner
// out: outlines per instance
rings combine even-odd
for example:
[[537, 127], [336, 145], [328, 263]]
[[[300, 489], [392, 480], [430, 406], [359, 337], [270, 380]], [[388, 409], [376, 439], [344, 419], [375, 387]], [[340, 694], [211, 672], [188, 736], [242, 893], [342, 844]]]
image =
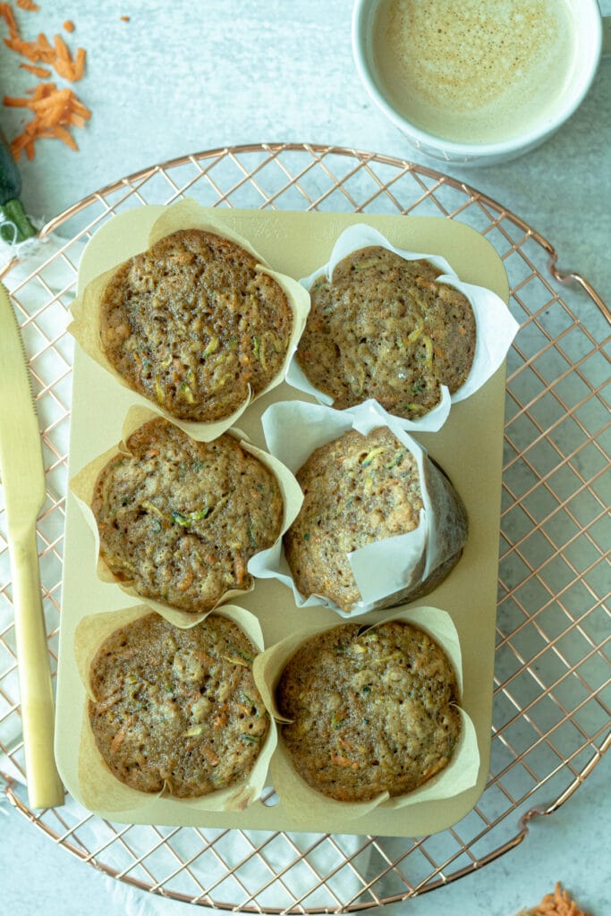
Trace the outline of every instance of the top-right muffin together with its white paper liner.
[[336, 409], [375, 398], [405, 430], [437, 431], [482, 387], [518, 331], [506, 304], [441, 256], [391, 245], [366, 224], [300, 280], [311, 311], [289, 385]]

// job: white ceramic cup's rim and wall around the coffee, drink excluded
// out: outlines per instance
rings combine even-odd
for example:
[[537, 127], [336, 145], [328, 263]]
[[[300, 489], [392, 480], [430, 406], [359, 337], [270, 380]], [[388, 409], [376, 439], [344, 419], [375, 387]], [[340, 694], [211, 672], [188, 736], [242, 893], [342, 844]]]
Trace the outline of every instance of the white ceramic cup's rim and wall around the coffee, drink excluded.
[[[518, 136], [493, 142], [455, 142], [411, 123], [405, 113], [399, 113], [397, 105], [390, 99], [390, 93], [376, 70], [374, 50], [375, 19], [380, 5], [387, 2], [388, 0], [355, 0], [352, 40], [356, 69], [374, 102], [406, 136], [410, 146], [427, 156], [446, 162], [465, 166], [486, 166], [516, 158], [538, 147], [555, 133], [582, 103], [595, 78], [602, 53], [609, 52], [611, 18], [601, 16], [596, 0], [567, 0], [575, 29], [575, 52], [571, 79], [566, 81], [558, 103], [551, 111], [541, 114], [540, 120], [535, 121], [534, 125], [531, 121], [529, 127]], [[557, 3], [558, 0], [554, 2]]]

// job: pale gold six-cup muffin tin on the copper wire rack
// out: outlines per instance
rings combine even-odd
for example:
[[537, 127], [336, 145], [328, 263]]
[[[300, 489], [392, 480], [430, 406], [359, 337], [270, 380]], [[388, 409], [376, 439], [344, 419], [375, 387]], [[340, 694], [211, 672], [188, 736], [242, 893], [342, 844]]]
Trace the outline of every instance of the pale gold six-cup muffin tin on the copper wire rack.
[[[147, 243], [149, 226], [162, 208], [141, 207], [122, 213], [93, 236], [82, 256], [79, 286]], [[505, 269], [486, 240], [468, 226], [453, 221], [400, 216], [342, 213], [291, 213], [214, 211], [214, 219], [250, 239], [278, 270], [294, 278], [306, 276], [323, 263], [334, 239], [348, 226], [366, 222], [394, 244], [444, 256], [466, 282], [486, 286], [507, 300]], [[309, 823], [308, 829], [334, 833], [415, 835], [439, 831], [470, 810], [484, 789], [490, 744], [492, 670], [496, 616], [497, 538], [499, 528], [504, 369], [472, 398], [453, 407], [442, 430], [421, 433], [420, 441], [431, 457], [442, 463], [463, 496], [471, 531], [464, 557], [452, 575], [431, 595], [427, 605], [447, 610], [453, 617], [464, 657], [463, 705], [475, 724], [481, 765], [475, 787], [452, 799], [422, 802], [403, 812], [369, 812], [344, 823], [341, 816]], [[254, 444], [265, 447], [260, 417], [275, 400], [307, 399], [286, 384], [269, 392], [248, 408], [240, 426]], [[73, 374], [70, 474], [76, 474], [96, 454], [120, 438], [121, 425], [133, 403], [130, 392], [89, 357], [76, 349]], [[267, 646], [300, 628], [303, 614], [308, 626], [327, 626], [333, 612], [314, 607], [299, 610], [289, 590], [273, 581], [256, 582], [254, 591], [240, 602], [259, 618]], [[423, 604], [423, 603], [422, 603]], [[80, 801], [78, 747], [84, 695], [73, 654], [74, 631], [82, 616], [113, 611], [128, 605], [125, 594], [95, 576], [93, 536], [73, 497], [69, 496], [66, 520], [56, 753], [67, 788]], [[416, 603], [418, 605], [418, 603]], [[273, 800], [272, 800], [273, 801]], [[90, 807], [92, 805], [90, 804]], [[245, 812], [197, 812], [168, 799], [155, 799], [130, 812], [96, 813], [126, 823], [200, 824], [211, 827], [295, 829], [279, 803], [256, 802]], [[304, 829], [300, 824], [300, 829]]]

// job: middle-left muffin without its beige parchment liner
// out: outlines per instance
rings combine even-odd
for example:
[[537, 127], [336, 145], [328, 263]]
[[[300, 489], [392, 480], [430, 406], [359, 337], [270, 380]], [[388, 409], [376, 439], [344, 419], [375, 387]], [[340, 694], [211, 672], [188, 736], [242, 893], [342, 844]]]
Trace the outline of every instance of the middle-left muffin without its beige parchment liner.
[[188, 612], [247, 591], [246, 564], [278, 539], [278, 482], [224, 433], [195, 442], [156, 418], [127, 439], [93, 489], [100, 557], [137, 594]]

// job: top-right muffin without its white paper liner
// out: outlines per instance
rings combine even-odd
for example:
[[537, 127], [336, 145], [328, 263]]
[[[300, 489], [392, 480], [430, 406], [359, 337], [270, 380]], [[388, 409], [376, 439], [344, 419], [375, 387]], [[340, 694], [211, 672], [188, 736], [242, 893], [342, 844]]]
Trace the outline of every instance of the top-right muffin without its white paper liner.
[[427, 260], [381, 245], [344, 257], [311, 286], [297, 361], [311, 384], [345, 409], [375, 398], [417, 420], [463, 385], [475, 355], [475, 315]]

